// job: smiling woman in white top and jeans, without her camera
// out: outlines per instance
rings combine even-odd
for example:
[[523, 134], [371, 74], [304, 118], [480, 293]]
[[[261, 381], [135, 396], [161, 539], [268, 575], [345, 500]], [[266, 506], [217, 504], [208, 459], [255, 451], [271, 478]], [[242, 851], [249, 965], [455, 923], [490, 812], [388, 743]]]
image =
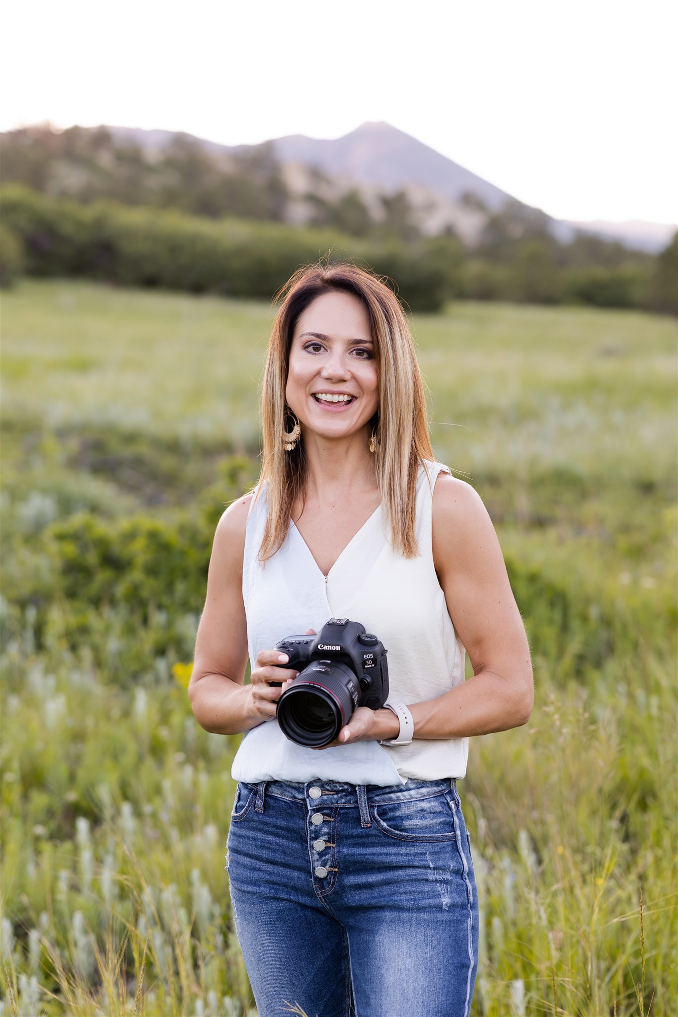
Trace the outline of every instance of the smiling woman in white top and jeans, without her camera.
[[[228, 866], [259, 1014], [468, 1015], [478, 901], [456, 780], [469, 736], [533, 703], [499, 543], [434, 461], [407, 320], [375, 277], [293, 277], [262, 396], [261, 479], [217, 528], [189, 689], [202, 727], [247, 732]], [[386, 647], [389, 706], [310, 749], [275, 721], [297, 671], [274, 647], [331, 615]]]

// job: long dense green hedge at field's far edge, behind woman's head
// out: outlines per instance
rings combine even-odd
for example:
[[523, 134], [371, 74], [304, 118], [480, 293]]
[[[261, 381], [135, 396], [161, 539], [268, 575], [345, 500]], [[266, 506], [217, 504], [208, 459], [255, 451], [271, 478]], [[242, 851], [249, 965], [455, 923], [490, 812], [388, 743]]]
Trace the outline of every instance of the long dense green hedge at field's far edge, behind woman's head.
[[411, 247], [329, 229], [210, 222], [112, 202], [79, 205], [18, 185], [3, 189], [0, 210], [23, 240], [27, 271], [38, 276], [269, 300], [300, 265], [327, 257], [356, 260], [389, 277], [412, 310], [438, 310], [449, 296], [454, 258], [448, 241]]

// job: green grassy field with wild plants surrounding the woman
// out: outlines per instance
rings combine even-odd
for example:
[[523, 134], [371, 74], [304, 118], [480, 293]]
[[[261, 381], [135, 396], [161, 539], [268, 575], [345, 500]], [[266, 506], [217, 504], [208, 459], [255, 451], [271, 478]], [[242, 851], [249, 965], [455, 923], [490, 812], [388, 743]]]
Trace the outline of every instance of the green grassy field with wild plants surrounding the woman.
[[[214, 522], [256, 476], [271, 316], [3, 296], [2, 1013], [253, 1010], [224, 872], [238, 738], [185, 684]], [[675, 320], [457, 304], [413, 328], [535, 665], [530, 724], [474, 739], [459, 785], [473, 1012], [672, 1014]]]

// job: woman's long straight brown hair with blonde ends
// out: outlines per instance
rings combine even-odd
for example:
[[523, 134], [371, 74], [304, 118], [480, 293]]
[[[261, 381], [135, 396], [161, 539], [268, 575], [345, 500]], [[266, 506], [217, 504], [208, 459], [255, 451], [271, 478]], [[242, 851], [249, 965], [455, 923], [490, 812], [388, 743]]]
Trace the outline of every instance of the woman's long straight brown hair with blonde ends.
[[394, 550], [406, 557], [418, 552], [415, 537], [419, 464], [433, 460], [426, 397], [408, 321], [394, 293], [376, 276], [353, 264], [312, 264], [299, 268], [278, 294], [283, 298], [268, 344], [262, 382], [263, 465], [259, 490], [266, 485], [267, 518], [259, 549], [266, 561], [283, 545], [295, 503], [304, 500], [306, 460], [303, 434], [287, 452], [282, 433], [290, 347], [297, 320], [316, 297], [340, 291], [357, 297], [370, 318], [379, 386], [373, 418], [374, 454], [382, 507], [390, 524]]

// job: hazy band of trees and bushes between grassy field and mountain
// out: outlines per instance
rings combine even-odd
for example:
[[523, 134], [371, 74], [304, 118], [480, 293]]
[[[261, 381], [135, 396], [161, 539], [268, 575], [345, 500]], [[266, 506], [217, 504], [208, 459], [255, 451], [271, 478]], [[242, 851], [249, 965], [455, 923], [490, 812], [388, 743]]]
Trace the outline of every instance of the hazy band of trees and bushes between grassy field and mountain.
[[[269, 298], [307, 260], [350, 257], [396, 281], [415, 311], [450, 299], [632, 307], [678, 313], [678, 239], [660, 254], [578, 232], [568, 243], [518, 201], [483, 216], [477, 242], [422, 232], [404, 190], [377, 212], [320, 171], [294, 226], [269, 142], [228, 158], [187, 135], [152, 151], [105, 127], [36, 126], [0, 137], [0, 282], [21, 272], [120, 285]], [[395, 285], [395, 284], [393, 284]]]

